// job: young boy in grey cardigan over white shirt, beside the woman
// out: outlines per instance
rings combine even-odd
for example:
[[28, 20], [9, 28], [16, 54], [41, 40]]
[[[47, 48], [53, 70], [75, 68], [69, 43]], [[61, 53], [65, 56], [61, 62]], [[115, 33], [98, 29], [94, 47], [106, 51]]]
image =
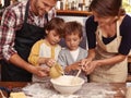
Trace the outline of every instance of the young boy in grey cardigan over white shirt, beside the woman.
[[[80, 60], [87, 57], [87, 50], [80, 47], [83, 38], [82, 25], [75, 21], [66, 23], [64, 40], [67, 47], [62, 49], [58, 56], [58, 63], [63, 66], [66, 74], [75, 75], [80, 65]], [[87, 81], [82, 72], [81, 77]]]

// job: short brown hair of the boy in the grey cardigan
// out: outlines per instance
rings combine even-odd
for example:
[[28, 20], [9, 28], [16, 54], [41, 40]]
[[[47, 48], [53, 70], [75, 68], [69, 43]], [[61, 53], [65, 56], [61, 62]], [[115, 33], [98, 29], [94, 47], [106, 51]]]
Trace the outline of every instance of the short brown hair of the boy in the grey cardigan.
[[76, 21], [67, 22], [64, 26], [64, 37], [66, 35], [79, 35], [83, 36], [82, 24]]

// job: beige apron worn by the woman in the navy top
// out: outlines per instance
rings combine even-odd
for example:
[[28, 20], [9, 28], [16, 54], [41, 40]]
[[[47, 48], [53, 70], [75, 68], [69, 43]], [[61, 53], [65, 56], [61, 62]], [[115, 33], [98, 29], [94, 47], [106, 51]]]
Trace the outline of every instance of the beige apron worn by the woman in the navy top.
[[[117, 37], [105, 45], [103, 42], [103, 35], [99, 28], [96, 32], [96, 60], [107, 59], [118, 54], [119, 45], [121, 42], [121, 36], [119, 32], [119, 22], [117, 22]], [[91, 82], [100, 82], [100, 83], [122, 83], [126, 82], [128, 75], [128, 63], [127, 59], [123, 61], [114, 64], [114, 65], [104, 65], [96, 68], [93, 74], [91, 74]]]

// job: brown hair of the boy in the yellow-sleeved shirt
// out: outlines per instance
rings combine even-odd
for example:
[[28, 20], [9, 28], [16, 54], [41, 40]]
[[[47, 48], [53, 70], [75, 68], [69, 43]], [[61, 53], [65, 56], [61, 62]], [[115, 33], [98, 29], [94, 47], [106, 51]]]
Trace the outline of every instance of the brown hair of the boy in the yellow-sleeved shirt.
[[56, 33], [62, 37], [64, 34], [64, 20], [60, 17], [53, 17], [46, 24], [45, 29], [55, 29]]

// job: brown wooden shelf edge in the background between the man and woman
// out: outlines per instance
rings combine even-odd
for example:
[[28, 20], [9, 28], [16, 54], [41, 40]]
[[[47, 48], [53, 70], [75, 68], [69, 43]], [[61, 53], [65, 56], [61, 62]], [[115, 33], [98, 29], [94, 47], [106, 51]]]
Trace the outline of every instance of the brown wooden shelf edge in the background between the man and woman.
[[57, 15], [87, 16], [92, 15], [92, 12], [75, 10], [57, 10]]

